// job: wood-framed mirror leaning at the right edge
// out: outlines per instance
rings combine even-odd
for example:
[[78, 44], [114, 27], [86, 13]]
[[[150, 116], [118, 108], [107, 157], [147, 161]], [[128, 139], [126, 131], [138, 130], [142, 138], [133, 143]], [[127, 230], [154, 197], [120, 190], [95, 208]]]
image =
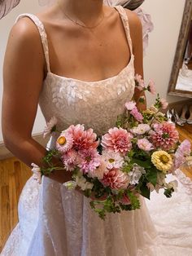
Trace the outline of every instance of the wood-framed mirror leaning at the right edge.
[[192, 98], [192, 0], [185, 0], [168, 95]]

